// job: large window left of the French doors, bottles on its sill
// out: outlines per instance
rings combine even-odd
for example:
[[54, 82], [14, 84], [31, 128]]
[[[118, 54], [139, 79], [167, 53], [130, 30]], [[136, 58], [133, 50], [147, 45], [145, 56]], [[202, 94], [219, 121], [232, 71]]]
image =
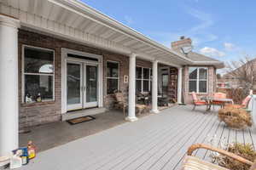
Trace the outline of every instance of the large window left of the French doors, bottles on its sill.
[[53, 50], [24, 47], [23, 101], [54, 100], [54, 60]]

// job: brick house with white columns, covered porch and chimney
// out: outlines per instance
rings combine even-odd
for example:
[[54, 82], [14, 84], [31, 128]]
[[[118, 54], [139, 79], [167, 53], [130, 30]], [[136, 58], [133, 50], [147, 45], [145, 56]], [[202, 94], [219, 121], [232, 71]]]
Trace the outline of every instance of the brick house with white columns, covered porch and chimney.
[[189, 38], [166, 48], [79, 1], [20, 2], [0, 1], [0, 156], [18, 146], [19, 127], [101, 113], [114, 90], [129, 97], [129, 121], [138, 91], [152, 93], [153, 112], [159, 94], [190, 103], [192, 91], [214, 92], [224, 65], [183, 54]]

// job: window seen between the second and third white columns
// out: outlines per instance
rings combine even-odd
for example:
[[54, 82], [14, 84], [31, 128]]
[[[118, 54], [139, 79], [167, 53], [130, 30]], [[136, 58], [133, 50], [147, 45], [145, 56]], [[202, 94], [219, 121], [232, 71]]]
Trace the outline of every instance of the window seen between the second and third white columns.
[[136, 67], [137, 92], [149, 92], [151, 87], [151, 69]]

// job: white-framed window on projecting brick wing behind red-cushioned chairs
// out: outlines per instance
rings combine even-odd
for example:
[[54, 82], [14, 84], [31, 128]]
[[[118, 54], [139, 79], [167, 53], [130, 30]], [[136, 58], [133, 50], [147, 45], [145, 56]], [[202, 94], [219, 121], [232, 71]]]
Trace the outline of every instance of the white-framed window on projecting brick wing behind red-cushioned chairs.
[[208, 69], [189, 67], [189, 92], [207, 93]]

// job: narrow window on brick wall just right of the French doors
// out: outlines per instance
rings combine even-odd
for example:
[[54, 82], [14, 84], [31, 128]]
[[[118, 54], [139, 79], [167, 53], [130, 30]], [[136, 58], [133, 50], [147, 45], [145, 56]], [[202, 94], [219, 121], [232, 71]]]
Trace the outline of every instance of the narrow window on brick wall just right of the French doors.
[[107, 61], [107, 94], [119, 90], [119, 62]]

